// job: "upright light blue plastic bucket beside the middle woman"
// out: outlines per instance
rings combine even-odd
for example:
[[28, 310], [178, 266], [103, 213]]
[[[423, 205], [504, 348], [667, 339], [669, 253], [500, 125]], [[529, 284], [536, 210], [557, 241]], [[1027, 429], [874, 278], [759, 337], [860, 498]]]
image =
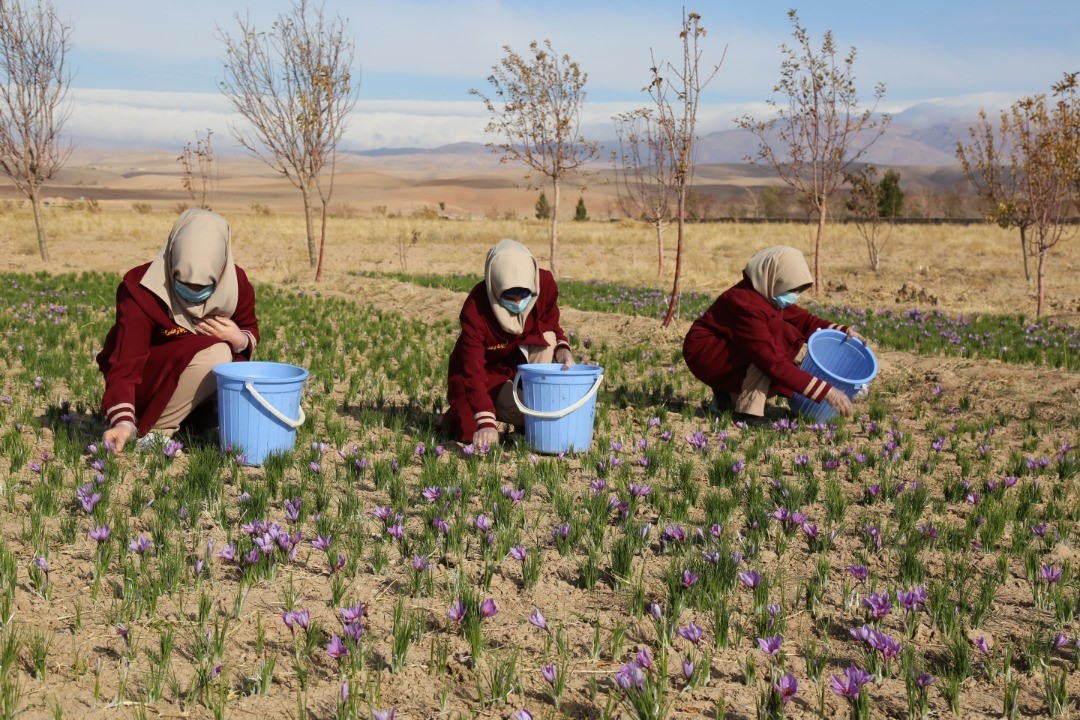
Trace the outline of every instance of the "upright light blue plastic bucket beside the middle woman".
[[[525, 416], [525, 440], [536, 452], [588, 450], [593, 444], [596, 391], [604, 368], [595, 365], [526, 363], [517, 366], [514, 403]], [[522, 384], [523, 399], [517, 397]]]

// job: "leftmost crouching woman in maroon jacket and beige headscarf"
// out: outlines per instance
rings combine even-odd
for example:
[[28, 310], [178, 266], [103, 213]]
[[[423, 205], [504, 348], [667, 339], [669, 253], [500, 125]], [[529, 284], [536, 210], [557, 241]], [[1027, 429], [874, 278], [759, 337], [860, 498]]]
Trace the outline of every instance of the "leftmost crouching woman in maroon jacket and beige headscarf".
[[[215, 365], [249, 359], [259, 341], [255, 291], [232, 260], [229, 223], [186, 210], [152, 262], [117, 288], [117, 320], [97, 355], [103, 439], [171, 436], [216, 392]], [[140, 441], [141, 444], [141, 441]]]

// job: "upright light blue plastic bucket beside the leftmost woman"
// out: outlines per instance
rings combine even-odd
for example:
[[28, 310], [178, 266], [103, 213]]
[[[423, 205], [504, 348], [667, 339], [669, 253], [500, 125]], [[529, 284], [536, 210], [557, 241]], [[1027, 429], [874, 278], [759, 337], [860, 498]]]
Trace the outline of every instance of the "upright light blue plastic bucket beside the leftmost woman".
[[303, 424], [300, 393], [308, 371], [284, 363], [225, 363], [217, 376], [221, 449], [261, 465], [271, 452], [288, 452]]

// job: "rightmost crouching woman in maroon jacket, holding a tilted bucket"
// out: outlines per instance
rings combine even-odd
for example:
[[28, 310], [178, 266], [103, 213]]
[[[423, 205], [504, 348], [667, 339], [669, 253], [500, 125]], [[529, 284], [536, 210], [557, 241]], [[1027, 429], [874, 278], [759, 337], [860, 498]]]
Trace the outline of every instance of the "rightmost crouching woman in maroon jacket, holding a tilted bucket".
[[694, 377], [713, 389], [719, 408], [752, 420], [765, 415], [769, 396], [799, 393], [851, 416], [847, 395], [795, 364], [814, 330], [835, 328], [863, 340], [853, 328], [795, 304], [812, 285], [802, 253], [783, 245], [767, 247], [746, 263], [742, 281], [693, 323], [683, 342], [683, 357]]

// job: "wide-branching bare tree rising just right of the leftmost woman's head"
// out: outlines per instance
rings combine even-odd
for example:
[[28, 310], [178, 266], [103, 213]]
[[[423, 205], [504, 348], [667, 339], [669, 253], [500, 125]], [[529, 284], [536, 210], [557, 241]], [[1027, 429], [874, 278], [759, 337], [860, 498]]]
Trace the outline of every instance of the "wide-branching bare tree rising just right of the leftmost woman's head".
[[[303, 196], [308, 259], [322, 275], [326, 206], [334, 193], [338, 147], [356, 103], [355, 45], [348, 22], [330, 19], [322, 3], [293, 0], [292, 9], [259, 31], [234, 16], [235, 36], [218, 28], [225, 44], [221, 93], [247, 121], [230, 127], [248, 152], [288, 179]], [[322, 205], [321, 240], [314, 229]]]

